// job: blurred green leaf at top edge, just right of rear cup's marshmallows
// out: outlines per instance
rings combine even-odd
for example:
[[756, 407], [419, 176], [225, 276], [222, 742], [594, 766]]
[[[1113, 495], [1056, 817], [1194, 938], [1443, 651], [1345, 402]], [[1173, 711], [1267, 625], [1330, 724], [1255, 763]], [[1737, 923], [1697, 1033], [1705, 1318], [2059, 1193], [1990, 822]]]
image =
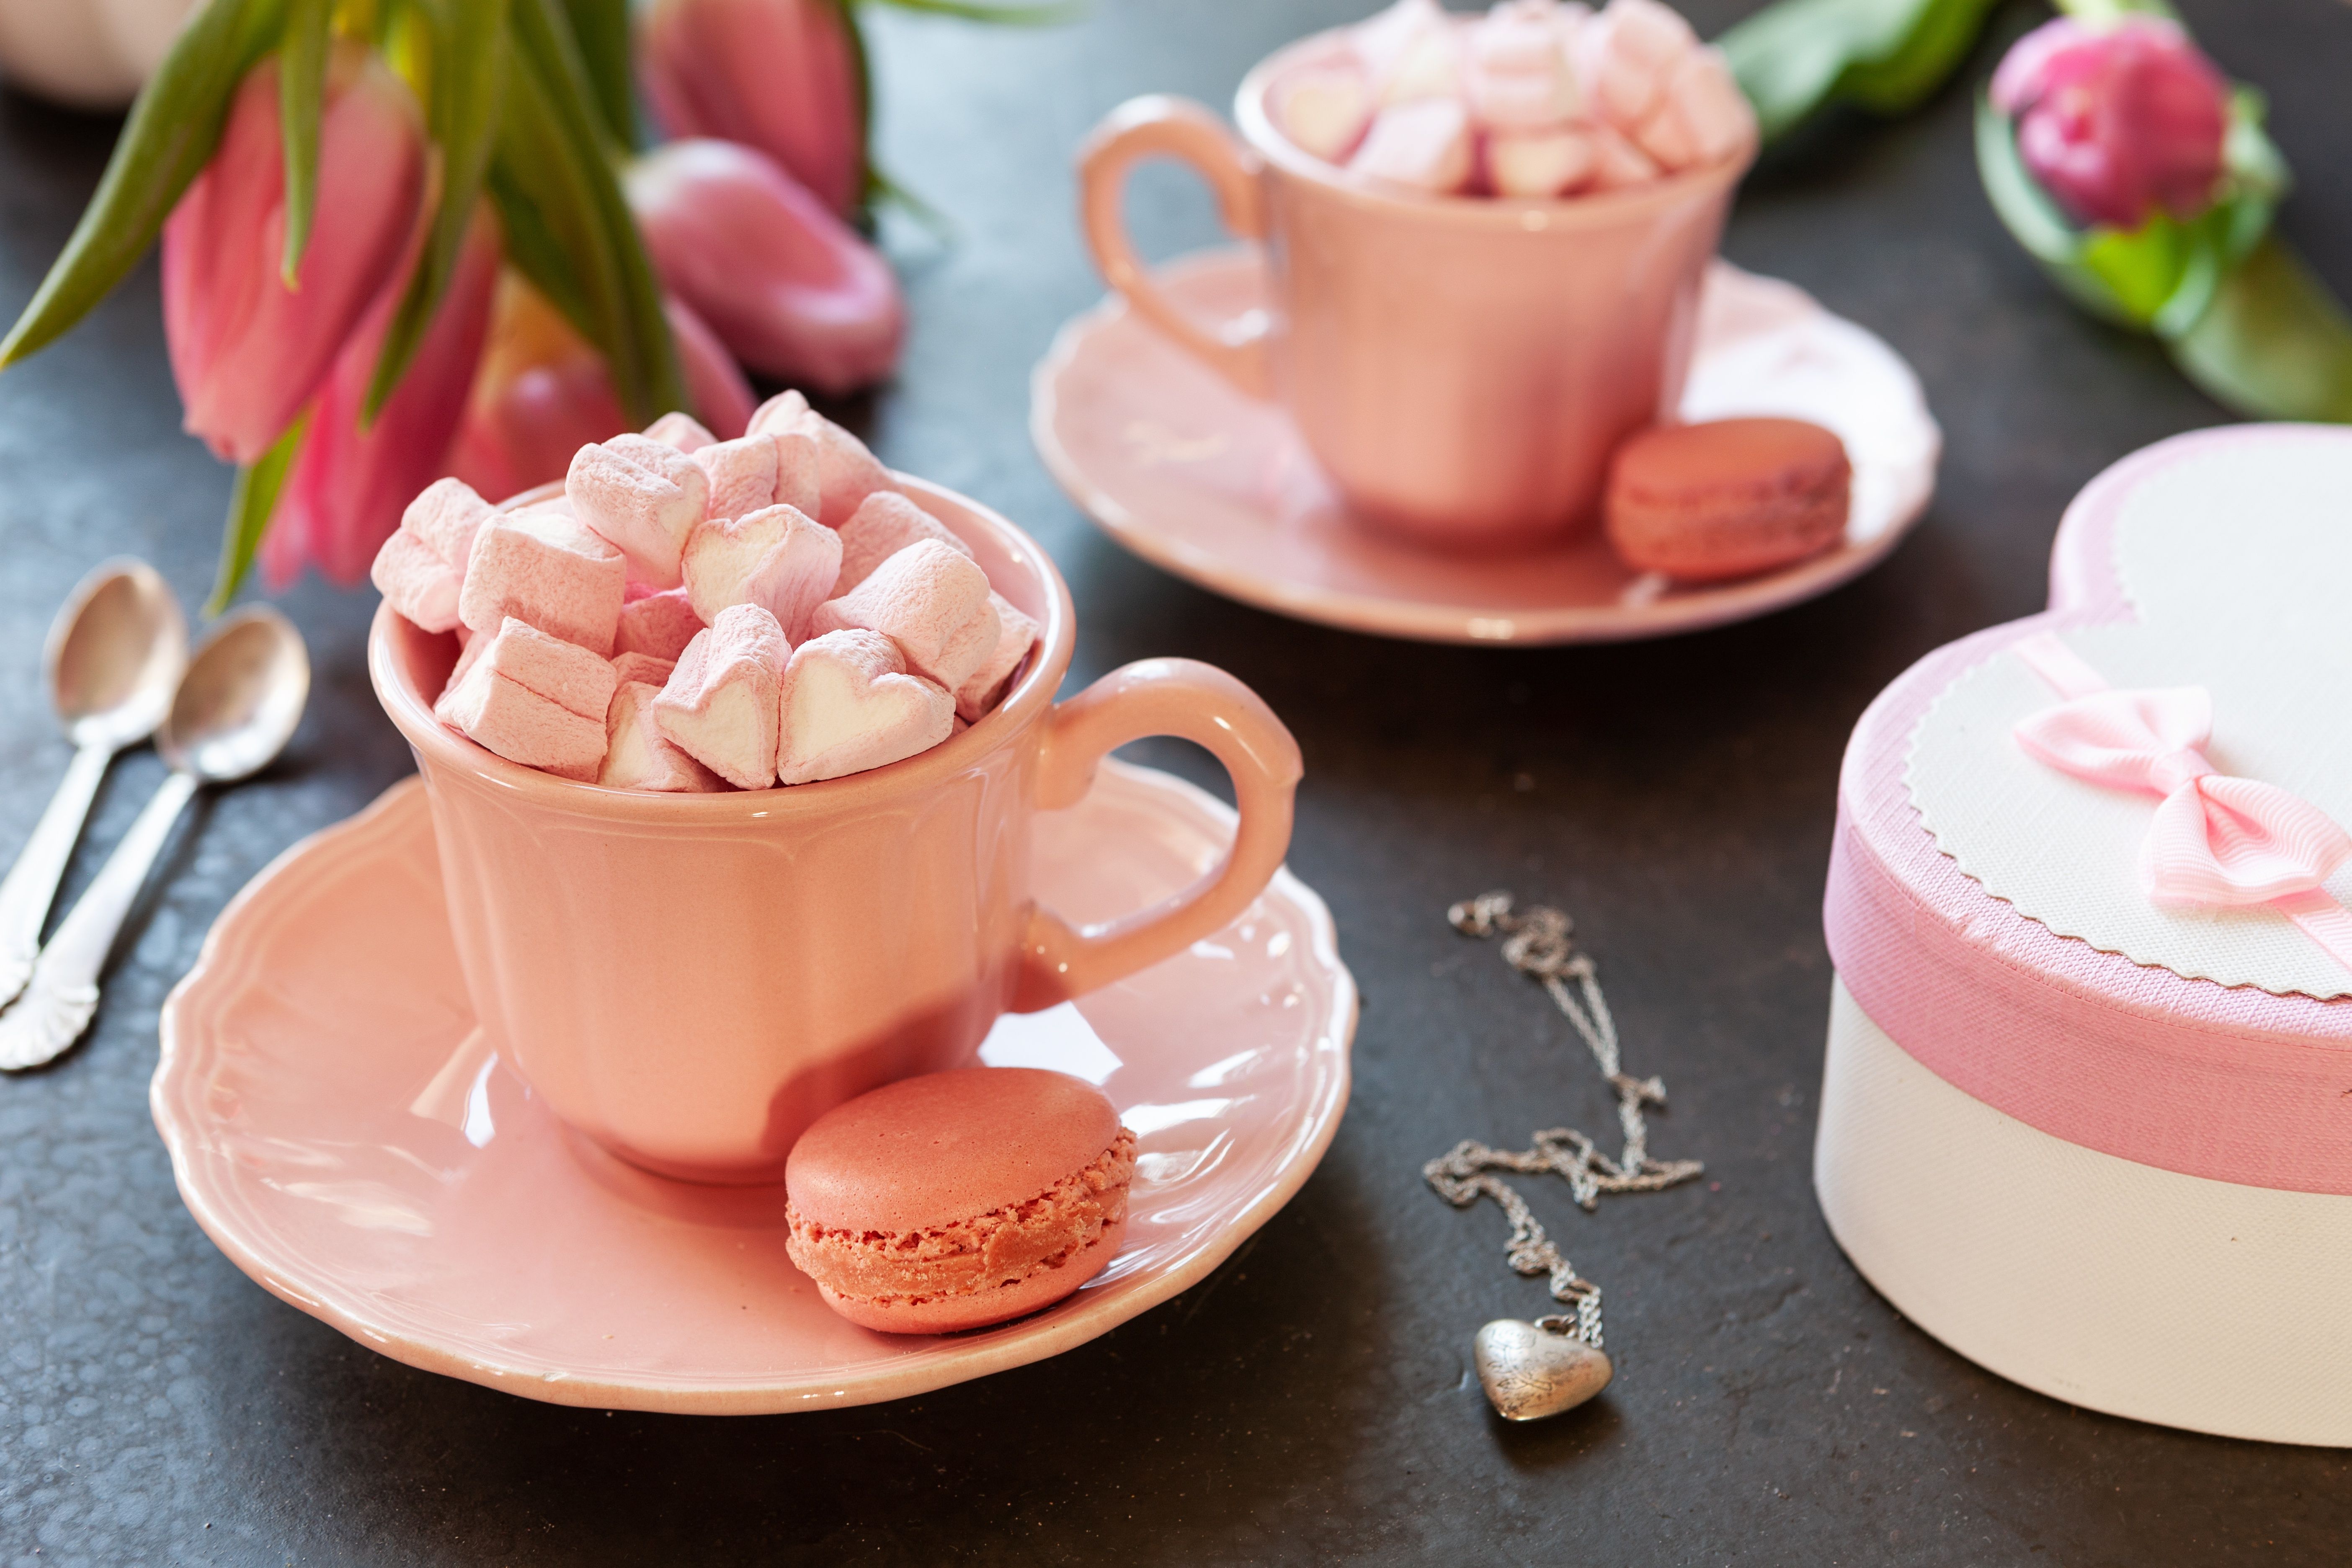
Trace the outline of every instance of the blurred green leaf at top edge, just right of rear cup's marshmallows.
[[1976, 47], [1994, 0], [1776, 0], [1715, 42], [1764, 141], [1835, 101], [1879, 115], [1924, 103]]

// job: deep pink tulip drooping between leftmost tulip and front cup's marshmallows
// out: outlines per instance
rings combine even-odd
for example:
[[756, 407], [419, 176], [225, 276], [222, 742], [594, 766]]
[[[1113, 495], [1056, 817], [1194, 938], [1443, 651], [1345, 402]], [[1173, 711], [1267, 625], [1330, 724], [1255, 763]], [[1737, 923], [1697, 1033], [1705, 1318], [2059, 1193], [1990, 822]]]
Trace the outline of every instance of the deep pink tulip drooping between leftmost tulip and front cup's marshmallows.
[[310, 409], [294, 473], [278, 491], [278, 510], [261, 541], [261, 578], [273, 592], [301, 576], [306, 562], [346, 588], [365, 578], [416, 491], [449, 473], [449, 440], [482, 362], [496, 282], [499, 226], [480, 209], [433, 327], [376, 421], [360, 430], [360, 409], [367, 407], [383, 334], [407, 292], [407, 270], [376, 296], [367, 322], [336, 357], [327, 390]]

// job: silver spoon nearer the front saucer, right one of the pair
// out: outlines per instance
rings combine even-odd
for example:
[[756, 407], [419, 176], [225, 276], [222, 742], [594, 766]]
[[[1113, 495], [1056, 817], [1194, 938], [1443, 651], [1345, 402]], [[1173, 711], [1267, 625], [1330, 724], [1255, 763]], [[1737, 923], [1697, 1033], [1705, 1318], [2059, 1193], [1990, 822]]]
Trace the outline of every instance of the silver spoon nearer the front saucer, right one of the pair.
[[179, 813], [200, 788], [266, 769], [294, 738], [308, 698], [310, 654], [292, 621], [256, 604], [212, 628], [155, 731], [172, 776], [40, 950], [24, 997], [0, 1013], [0, 1070], [40, 1067], [82, 1037], [99, 1011], [106, 954]]

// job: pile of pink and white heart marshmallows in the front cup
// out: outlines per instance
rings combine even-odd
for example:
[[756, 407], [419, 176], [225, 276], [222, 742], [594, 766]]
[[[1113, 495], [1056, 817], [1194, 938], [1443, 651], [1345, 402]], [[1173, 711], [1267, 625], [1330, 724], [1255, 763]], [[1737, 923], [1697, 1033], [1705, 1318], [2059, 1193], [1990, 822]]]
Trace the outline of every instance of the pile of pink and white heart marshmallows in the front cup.
[[440, 480], [374, 581], [463, 642], [442, 724], [614, 790], [913, 757], [995, 708], [1037, 642], [971, 548], [800, 393], [734, 442], [666, 414], [581, 447], [560, 498], [508, 512]]

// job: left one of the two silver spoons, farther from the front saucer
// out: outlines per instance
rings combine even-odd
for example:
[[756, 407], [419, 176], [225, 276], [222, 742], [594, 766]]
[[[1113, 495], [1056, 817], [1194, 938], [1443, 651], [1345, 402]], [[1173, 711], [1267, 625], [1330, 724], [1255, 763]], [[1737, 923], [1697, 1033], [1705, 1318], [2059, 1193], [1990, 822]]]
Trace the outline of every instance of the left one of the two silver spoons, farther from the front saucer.
[[56, 611], [40, 663], [75, 750], [33, 837], [0, 882], [0, 1006], [33, 978], [40, 922], [49, 917], [106, 764], [153, 736], [172, 705], [172, 689], [188, 668], [188, 623], [153, 567], [113, 559], [85, 576]]

